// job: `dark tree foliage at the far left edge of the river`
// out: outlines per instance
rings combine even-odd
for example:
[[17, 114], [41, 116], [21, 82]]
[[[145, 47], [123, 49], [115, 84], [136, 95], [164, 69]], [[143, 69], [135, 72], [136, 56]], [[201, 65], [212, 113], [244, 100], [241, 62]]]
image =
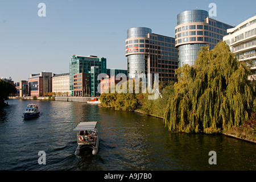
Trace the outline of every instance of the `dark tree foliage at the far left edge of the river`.
[[16, 93], [15, 86], [11, 85], [8, 81], [0, 79], [0, 105], [8, 100], [9, 96], [14, 96]]

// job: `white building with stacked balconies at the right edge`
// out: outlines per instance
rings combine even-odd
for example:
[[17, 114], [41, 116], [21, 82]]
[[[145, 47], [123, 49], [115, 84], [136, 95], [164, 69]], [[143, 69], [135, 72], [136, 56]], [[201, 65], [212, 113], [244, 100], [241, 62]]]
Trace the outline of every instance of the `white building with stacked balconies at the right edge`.
[[251, 60], [254, 63], [251, 72], [256, 78], [256, 15], [228, 29], [228, 33], [223, 40], [239, 61]]

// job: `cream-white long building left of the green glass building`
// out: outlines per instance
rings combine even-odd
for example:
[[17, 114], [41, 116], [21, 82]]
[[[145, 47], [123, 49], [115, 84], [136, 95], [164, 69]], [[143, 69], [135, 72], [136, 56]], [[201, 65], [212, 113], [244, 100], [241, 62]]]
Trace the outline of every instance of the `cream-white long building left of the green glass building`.
[[71, 96], [71, 91], [69, 90], [69, 73], [63, 74], [53, 74], [52, 77], [52, 92], [56, 93], [58, 96], [60, 93], [61, 96]]

